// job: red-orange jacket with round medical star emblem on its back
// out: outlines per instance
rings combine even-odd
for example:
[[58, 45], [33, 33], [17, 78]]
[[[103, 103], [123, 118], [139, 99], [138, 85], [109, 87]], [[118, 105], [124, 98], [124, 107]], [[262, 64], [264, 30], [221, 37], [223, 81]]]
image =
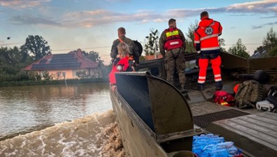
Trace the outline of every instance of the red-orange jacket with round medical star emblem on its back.
[[213, 19], [205, 18], [200, 21], [194, 31], [194, 47], [198, 53], [219, 53], [218, 36], [222, 34], [222, 26]]

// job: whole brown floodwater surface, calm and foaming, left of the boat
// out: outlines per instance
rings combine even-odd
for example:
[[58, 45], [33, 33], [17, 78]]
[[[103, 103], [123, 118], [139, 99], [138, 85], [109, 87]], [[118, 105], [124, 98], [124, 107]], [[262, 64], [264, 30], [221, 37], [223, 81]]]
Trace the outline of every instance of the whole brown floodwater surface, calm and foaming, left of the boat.
[[0, 156], [124, 156], [109, 84], [1, 87]]

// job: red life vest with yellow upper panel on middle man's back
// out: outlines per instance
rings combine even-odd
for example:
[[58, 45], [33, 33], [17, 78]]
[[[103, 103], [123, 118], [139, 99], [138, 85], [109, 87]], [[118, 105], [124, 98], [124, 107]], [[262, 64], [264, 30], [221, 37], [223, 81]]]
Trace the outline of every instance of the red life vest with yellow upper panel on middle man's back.
[[176, 49], [183, 47], [183, 41], [179, 34], [178, 28], [170, 27], [165, 30], [166, 33], [166, 43], [164, 43], [164, 49], [169, 51], [170, 49]]

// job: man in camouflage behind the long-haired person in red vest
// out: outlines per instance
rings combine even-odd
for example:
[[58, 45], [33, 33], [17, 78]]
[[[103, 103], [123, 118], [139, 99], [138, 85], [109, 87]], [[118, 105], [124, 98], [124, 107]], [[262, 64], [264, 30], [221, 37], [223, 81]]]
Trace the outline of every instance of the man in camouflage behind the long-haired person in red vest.
[[130, 61], [133, 63], [133, 60], [134, 60], [135, 61], [135, 66], [138, 66], [140, 64], [140, 55], [138, 53], [137, 45], [135, 45], [133, 40], [131, 40], [130, 38], [127, 38], [125, 35], [126, 35], [125, 28], [124, 27], [119, 27], [118, 28], [118, 38], [116, 40], [114, 40], [114, 43], [111, 46], [111, 58], [113, 58], [112, 61], [118, 55], [118, 45], [119, 45], [119, 43], [127, 43], [127, 45], [129, 46], [130, 53], [131, 53], [129, 55], [130, 55], [130, 57], [132, 57], [130, 59]]

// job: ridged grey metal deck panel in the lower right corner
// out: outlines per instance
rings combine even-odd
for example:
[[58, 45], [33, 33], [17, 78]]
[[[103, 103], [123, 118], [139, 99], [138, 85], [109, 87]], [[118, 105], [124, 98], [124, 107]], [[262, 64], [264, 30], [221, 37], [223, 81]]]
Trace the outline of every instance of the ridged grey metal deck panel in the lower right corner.
[[263, 112], [215, 121], [207, 131], [220, 134], [253, 156], [277, 155], [277, 114]]

